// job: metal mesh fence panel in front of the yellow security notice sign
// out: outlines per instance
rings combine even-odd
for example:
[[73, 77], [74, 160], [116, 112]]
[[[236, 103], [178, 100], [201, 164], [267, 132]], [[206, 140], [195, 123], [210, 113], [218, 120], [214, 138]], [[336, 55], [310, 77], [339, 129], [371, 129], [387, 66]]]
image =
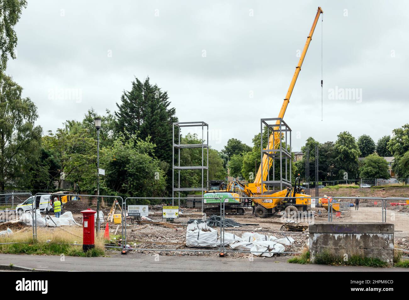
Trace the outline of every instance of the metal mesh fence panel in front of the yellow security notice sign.
[[[195, 197], [196, 199], [205, 199]], [[221, 200], [212, 198], [215, 205], [221, 209]], [[202, 213], [201, 205], [196, 207], [191, 203], [192, 198], [126, 198], [127, 209], [127, 234], [126, 244], [130, 251], [137, 253], [182, 253], [189, 255], [203, 255], [209, 252], [220, 252], [220, 233], [222, 232], [221, 210], [214, 215]], [[163, 214], [163, 207], [178, 207], [178, 218], [169, 220]], [[138, 209], [140, 216], [129, 216], [129, 211]], [[195, 224], [202, 229], [196, 229]], [[200, 225], [202, 224], [202, 225]], [[206, 225], [205, 225], [206, 224]], [[192, 227], [192, 228], [190, 228]], [[211, 227], [209, 229], [208, 227]], [[191, 232], [189, 232], [191, 230]], [[197, 231], [200, 244], [191, 244], [191, 235]], [[209, 232], [212, 231], [212, 232]], [[202, 243], [202, 234], [208, 234], [208, 243]]]

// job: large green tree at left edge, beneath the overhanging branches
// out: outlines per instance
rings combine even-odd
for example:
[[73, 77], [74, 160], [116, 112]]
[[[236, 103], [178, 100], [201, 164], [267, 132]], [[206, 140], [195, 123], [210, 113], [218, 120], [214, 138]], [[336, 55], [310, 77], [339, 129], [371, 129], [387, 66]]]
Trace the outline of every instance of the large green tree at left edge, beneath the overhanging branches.
[[40, 154], [37, 107], [21, 98], [22, 87], [0, 72], [0, 189], [22, 187], [29, 182], [29, 166]]

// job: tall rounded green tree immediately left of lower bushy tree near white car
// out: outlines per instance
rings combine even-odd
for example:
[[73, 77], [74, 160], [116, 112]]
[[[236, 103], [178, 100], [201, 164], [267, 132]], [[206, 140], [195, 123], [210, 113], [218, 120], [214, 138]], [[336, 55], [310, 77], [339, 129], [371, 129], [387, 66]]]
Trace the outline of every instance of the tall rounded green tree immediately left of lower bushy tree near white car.
[[335, 172], [339, 179], [356, 179], [358, 176], [358, 157], [361, 151], [355, 138], [348, 131], [339, 133], [334, 144]]

